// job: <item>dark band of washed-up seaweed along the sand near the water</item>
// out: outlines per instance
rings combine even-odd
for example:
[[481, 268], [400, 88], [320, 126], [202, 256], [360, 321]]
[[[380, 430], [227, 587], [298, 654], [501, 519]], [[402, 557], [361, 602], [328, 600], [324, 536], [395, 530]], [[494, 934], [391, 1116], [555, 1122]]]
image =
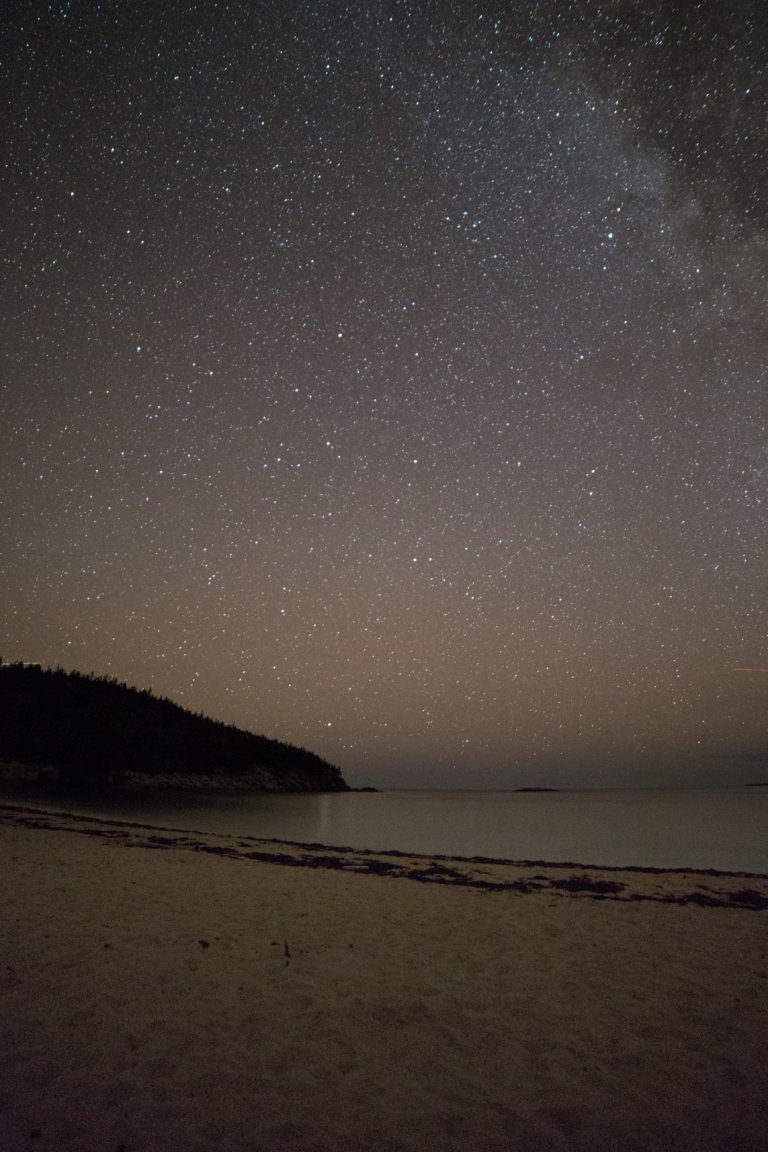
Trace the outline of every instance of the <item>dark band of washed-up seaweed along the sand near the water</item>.
[[[638, 866], [586, 865], [573, 862], [548, 861], [497, 861], [488, 857], [419, 856], [397, 850], [375, 852], [371, 849], [336, 848], [326, 844], [302, 844], [276, 840], [256, 840], [243, 836], [226, 836], [218, 833], [197, 833], [175, 828], [160, 828], [131, 821], [116, 821], [98, 817], [78, 816], [70, 812], [45, 812], [38, 809], [15, 808], [0, 804], [0, 821], [20, 827], [50, 832], [75, 832], [86, 836], [120, 842], [127, 848], [154, 850], [178, 850], [205, 852], [229, 859], [254, 861], [283, 867], [325, 869], [353, 872], [363, 876], [379, 876], [390, 879], [415, 880], [433, 884], [473, 888], [488, 893], [514, 892], [520, 895], [546, 893], [548, 895], [581, 897], [588, 900], [613, 900], [624, 903], [649, 901], [666, 904], [695, 904], [700, 908], [739, 908], [762, 911], [768, 909], [768, 893], [755, 887], [716, 889], [697, 885], [698, 890], [678, 893], [652, 893], [628, 890], [624, 880], [603, 879], [590, 872], [622, 872], [637, 876], [694, 876], [722, 877], [730, 880], [755, 879], [767, 881], [768, 877], [747, 872], [720, 872], [714, 869], [642, 869]], [[211, 843], [200, 836], [222, 841]], [[229, 842], [225, 842], [229, 841]], [[254, 844], [261, 844], [254, 848]], [[272, 848], [269, 846], [274, 844]], [[279, 847], [277, 847], [279, 846]], [[286, 851], [290, 848], [294, 851]], [[283, 849], [283, 850], [281, 850]], [[416, 863], [415, 863], [416, 862]], [[443, 863], [448, 862], [448, 863]], [[540, 872], [515, 879], [492, 879], [463, 871], [469, 865], [504, 866], [519, 869], [570, 870], [567, 877], [547, 877]], [[573, 870], [579, 870], [573, 871]], [[287, 945], [286, 945], [287, 948]], [[288, 962], [290, 955], [287, 950]]]

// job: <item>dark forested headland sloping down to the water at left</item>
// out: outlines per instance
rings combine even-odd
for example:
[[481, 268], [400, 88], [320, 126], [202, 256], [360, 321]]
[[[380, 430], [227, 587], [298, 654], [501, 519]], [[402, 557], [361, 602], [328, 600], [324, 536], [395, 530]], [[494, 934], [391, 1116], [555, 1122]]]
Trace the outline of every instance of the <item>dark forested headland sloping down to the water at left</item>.
[[108, 676], [0, 661], [0, 778], [88, 788], [347, 791], [303, 748]]

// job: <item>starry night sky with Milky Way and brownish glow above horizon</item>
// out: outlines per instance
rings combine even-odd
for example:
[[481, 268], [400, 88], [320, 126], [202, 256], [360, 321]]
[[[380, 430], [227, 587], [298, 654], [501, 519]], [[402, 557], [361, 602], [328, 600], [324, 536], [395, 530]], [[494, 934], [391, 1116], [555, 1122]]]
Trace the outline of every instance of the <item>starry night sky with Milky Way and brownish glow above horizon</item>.
[[0, 653], [357, 785], [759, 779], [763, 0], [3, 14]]

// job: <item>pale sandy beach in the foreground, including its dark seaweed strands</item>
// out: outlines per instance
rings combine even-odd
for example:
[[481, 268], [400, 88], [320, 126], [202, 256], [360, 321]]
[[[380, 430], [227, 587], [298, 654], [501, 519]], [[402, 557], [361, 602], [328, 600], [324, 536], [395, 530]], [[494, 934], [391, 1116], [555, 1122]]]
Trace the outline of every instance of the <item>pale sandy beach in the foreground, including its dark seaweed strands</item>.
[[765, 1152], [768, 877], [0, 808], [0, 1147]]

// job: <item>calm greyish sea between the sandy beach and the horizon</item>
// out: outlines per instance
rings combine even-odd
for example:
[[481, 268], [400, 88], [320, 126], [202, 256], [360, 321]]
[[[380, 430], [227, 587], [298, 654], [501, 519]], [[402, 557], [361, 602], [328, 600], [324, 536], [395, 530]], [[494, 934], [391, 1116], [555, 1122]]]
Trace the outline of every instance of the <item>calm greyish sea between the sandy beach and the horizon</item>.
[[120, 803], [82, 797], [54, 802], [28, 791], [13, 802], [303, 843], [768, 873], [768, 788], [249, 797], [187, 793]]

